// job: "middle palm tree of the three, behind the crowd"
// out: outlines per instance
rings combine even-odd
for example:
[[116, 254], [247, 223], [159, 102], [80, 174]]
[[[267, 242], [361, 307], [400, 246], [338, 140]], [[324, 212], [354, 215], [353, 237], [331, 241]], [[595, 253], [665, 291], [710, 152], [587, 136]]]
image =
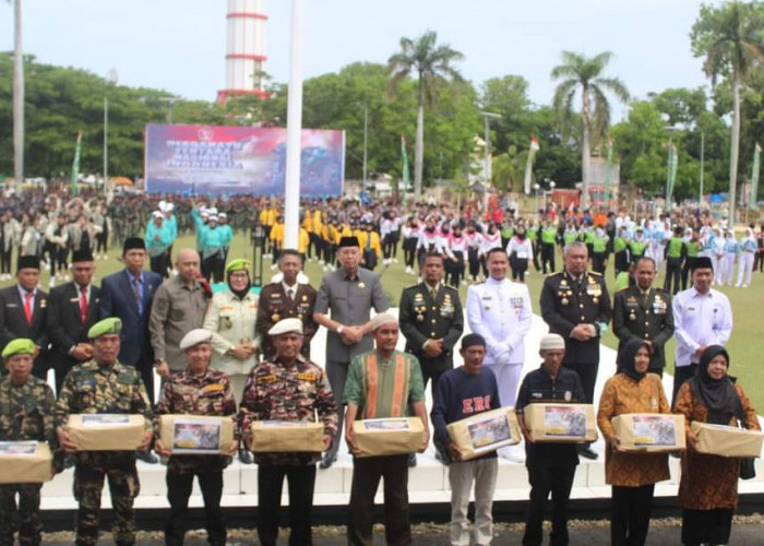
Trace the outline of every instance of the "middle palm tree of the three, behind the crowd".
[[[581, 206], [586, 209], [589, 199], [589, 154], [592, 146], [592, 131], [595, 139], [605, 134], [610, 123], [610, 103], [606, 95], [609, 91], [621, 102], [629, 100], [629, 91], [618, 78], [601, 78], [605, 67], [612, 59], [610, 51], [587, 58], [584, 55], [571, 51], [562, 52], [562, 64], [552, 69], [552, 80], [562, 80], [554, 90], [554, 109], [560, 112], [563, 128], [570, 121], [573, 110], [573, 99], [581, 90], [581, 122], [583, 138], [581, 141], [581, 178], [583, 192]], [[594, 106], [594, 111], [593, 111]]]

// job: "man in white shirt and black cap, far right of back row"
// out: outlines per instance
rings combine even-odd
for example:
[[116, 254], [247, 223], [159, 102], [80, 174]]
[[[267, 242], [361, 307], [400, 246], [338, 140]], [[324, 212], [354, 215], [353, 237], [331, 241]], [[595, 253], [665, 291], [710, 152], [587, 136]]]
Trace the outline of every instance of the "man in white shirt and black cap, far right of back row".
[[695, 375], [701, 355], [708, 345], [726, 345], [732, 333], [732, 308], [727, 296], [711, 287], [714, 268], [711, 258], [695, 258], [692, 287], [673, 297], [673, 334], [677, 336], [677, 370], [673, 396], [684, 381]]

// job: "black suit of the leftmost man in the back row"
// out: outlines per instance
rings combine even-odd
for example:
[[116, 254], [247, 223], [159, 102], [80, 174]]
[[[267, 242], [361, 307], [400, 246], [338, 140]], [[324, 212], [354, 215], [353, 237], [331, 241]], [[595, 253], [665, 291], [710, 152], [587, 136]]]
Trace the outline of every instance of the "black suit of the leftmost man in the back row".
[[[34, 341], [40, 352], [35, 359], [32, 372], [43, 380], [47, 379], [48, 373], [47, 311], [48, 294], [38, 288], [32, 310], [32, 324], [29, 324], [24, 313], [24, 302], [19, 294], [19, 285], [14, 284], [0, 290], [0, 351], [17, 337]], [[3, 368], [3, 373], [4, 371]]]

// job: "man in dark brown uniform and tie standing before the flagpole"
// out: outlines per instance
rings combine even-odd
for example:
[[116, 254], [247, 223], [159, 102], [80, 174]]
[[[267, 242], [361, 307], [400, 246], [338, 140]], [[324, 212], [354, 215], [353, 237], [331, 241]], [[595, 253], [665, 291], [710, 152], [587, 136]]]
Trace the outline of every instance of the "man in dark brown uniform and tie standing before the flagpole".
[[264, 360], [276, 355], [268, 330], [283, 319], [296, 318], [302, 323], [302, 348], [300, 354], [310, 359], [310, 341], [319, 325], [313, 320], [317, 293], [309, 284], [299, 284], [297, 275], [302, 271], [302, 258], [297, 250], [282, 250], [278, 257], [282, 272], [279, 283], [271, 283], [260, 290], [260, 305], [254, 330], [260, 339], [260, 352]]

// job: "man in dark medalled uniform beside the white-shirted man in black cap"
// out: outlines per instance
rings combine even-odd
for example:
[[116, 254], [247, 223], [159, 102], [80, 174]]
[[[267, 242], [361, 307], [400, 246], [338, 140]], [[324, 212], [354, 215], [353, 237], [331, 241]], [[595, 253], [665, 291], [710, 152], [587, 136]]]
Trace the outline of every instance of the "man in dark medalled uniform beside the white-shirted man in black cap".
[[632, 337], [638, 337], [650, 347], [648, 371], [662, 377], [666, 367], [664, 346], [673, 335], [671, 295], [653, 288], [655, 261], [641, 258], [636, 262], [636, 285], [616, 293], [612, 309], [612, 331], [621, 346]]

